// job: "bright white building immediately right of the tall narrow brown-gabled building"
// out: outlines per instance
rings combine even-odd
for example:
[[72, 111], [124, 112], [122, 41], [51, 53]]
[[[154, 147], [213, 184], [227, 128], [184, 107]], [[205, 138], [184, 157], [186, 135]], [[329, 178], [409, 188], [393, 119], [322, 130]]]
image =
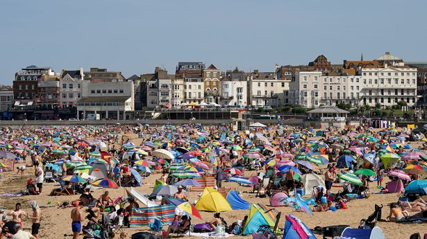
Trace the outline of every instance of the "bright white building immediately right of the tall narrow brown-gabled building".
[[247, 82], [233, 78], [223, 78], [221, 80], [221, 105], [226, 106], [246, 106], [247, 104]]

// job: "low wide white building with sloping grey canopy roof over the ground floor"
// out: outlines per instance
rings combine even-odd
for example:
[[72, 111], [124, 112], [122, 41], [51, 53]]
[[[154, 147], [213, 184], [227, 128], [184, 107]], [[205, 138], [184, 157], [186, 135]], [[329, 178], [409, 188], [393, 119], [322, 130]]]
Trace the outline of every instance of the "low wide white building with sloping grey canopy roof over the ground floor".
[[78, 118], [100, 114], [101, 118], [126, 119], [134, 110], [133, 81], [83, 80], [82, 98], [78, 100]]

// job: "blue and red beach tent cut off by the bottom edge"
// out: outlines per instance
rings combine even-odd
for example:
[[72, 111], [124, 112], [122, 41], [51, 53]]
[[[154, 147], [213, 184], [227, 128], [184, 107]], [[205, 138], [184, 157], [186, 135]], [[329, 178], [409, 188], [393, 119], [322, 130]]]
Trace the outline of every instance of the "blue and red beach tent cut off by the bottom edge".
[[315, 235], [294, 215], [285, 217], [283, 239], [316, 239]]

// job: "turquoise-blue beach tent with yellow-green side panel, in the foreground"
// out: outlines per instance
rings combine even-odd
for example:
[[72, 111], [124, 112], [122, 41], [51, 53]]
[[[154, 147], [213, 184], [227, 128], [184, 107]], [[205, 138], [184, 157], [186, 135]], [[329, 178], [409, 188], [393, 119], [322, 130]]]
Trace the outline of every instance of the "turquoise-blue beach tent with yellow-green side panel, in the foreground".
[[243, 235], [258, 231], [262, 225], [274, 227], [274, 224], [276, 224], [276, 213], [268, 211], [262, 204], [252, 204], [248, 219], [246, 219], [246, 224], [244, 225]]

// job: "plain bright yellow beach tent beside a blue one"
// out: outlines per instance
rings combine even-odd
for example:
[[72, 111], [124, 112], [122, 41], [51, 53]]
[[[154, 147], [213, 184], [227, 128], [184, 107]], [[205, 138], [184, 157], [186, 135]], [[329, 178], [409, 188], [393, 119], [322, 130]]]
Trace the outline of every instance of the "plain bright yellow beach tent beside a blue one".
[[199, 211], [231, 211], [231, 206], [221, 193], [214, 188], [206, 187], [196, 203]]

